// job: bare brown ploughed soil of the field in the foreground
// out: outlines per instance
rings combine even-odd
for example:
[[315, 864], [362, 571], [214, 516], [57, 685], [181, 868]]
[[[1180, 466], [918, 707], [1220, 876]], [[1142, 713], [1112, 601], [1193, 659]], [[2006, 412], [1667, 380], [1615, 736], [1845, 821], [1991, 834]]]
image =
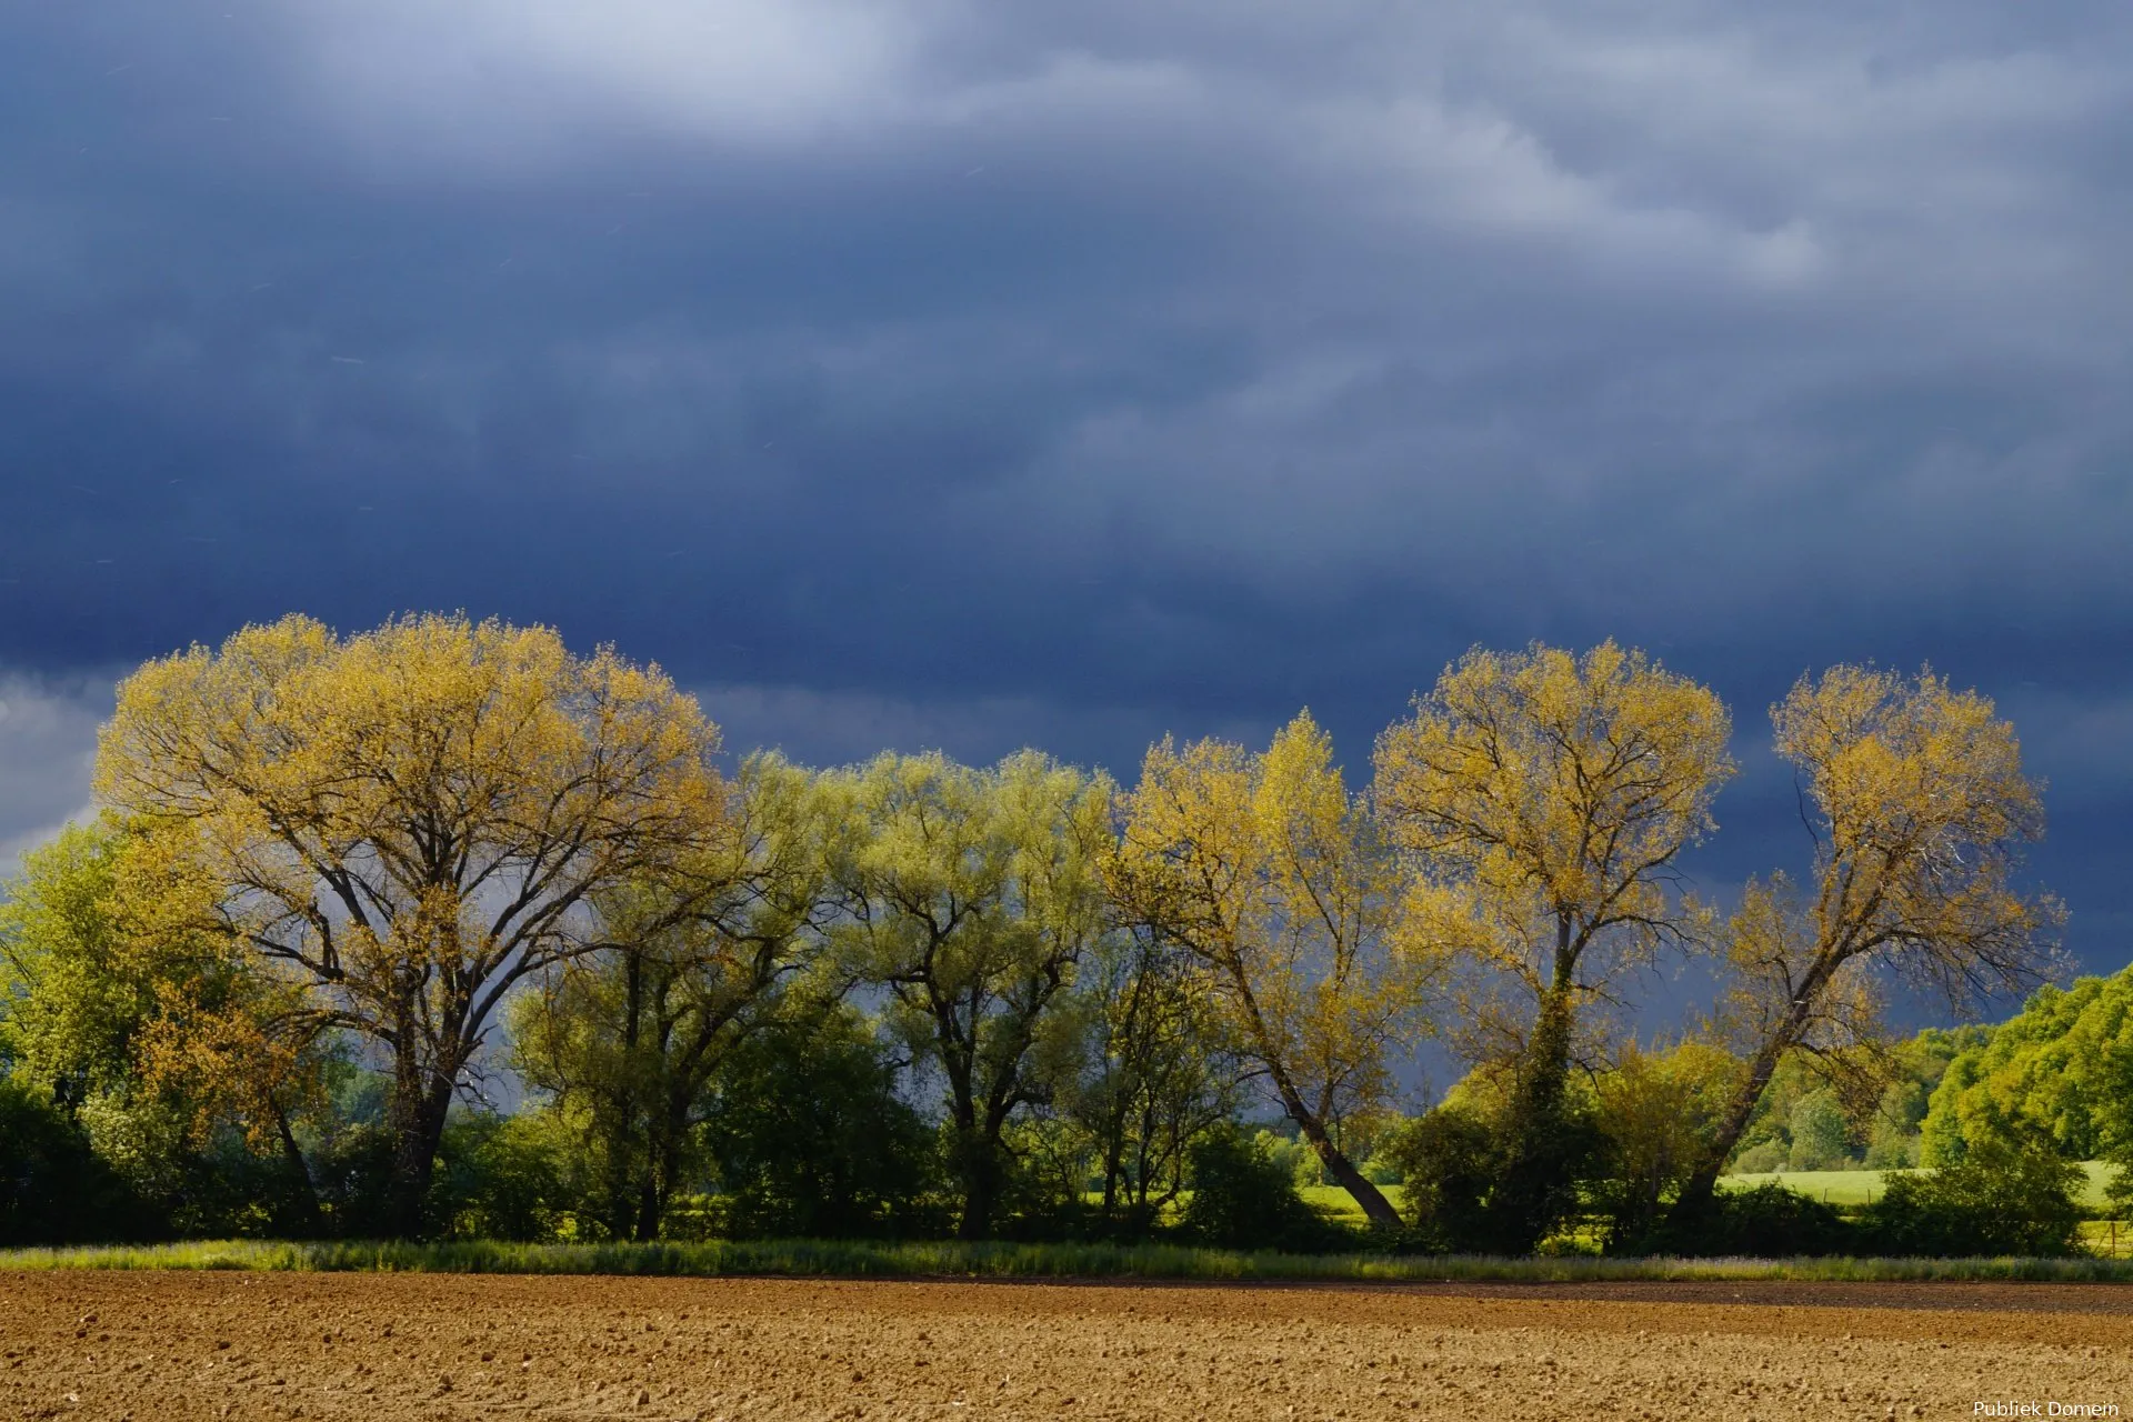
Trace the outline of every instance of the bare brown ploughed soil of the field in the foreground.
[[0, 1354], [137, 1422], [2052, 1416], [2133, 1409], [2133, 1290], [13, 1273]]

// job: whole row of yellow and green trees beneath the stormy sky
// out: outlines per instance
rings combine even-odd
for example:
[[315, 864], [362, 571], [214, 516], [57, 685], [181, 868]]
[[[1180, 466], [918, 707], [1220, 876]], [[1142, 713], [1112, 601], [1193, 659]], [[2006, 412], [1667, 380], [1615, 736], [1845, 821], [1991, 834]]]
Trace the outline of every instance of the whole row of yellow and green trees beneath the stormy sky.
[[[887, 1134], [796, 1187], [862, 1224], [866, 1162], [930, 1132], [964, 1237], [1032, 1179], [1145, 1230], [1258, 1102], [1372, 1226], [1527, 1251], [1595, 1192], [1638, 1228], [1709, 1211], [1794, 1064], [1886, 1087], [1892, 976], [1973, 1004], [2050, 968], [2060, 910], [2016, 883], [2039, 795], [1990, 701], [1837, 667], [1773, 723], [1815, 853], [1719, 915], [1674, 870], [1734, 772], [1728, 710], [1613, 644], [1468, 655], [1363, 789], [1308, 714], [1263, 750], [1165, 740], [1120, 789], [1039, 753], [725, 774], [693, 699], [612, 650], [292, 616], [119, 686], [105, 819], [0, 919], [0, 1040], [107, 1141], [241, 1134], [299, 1222], [339, 1190], [335, 1083], [384, 1083], [378, 1222], [416, 1234], [454, 1100], [510, 1066], [621, 1237], [832, 1098]], [[1649, 1055], [1623, 1028], [1666, 953], [1726, 998]], [[1393, 1130], [1429, 1034], [1474, 1070]], [[1683, 1119], [1689, 1079], [1704, 1126], [1630, 1160], [1619, 1121]]]

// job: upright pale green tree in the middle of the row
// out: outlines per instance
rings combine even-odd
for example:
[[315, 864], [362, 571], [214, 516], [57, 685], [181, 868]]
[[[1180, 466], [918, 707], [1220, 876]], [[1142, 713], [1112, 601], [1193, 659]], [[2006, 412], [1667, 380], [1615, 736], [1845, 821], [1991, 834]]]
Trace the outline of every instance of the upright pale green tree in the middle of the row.
[[883, 755], [836, 772], [851, 834], [838, 930], [889, 1023], [945, 1083], [958, 1230], [985, 1239], [1017, 1109], [1049, 1098], [1043, 1036], [1081, 953], [1105, 932], [1096, 863], [1111, 785], [1024, 750], [992, 770]]

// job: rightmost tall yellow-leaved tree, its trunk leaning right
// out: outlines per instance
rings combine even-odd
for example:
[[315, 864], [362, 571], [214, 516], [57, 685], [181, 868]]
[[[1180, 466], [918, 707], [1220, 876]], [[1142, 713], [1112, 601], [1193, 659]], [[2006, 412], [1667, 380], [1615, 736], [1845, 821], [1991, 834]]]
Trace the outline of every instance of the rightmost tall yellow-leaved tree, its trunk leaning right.
[[1815, 838], [1805, 891], [1751, 885], [1732, 919], [1747, 1070], [1711, 1151], [1683, 1187], [1698, 1211], [1785, 1053], [1869, 1038], [1892, 968], [1950, 1002], [2033, 987], [2052, 968], [2063, 908], [2016, 885], [2043, 834], [2043, 797], [2022, 774], [2014, 725], [1988, 697], [1930, 672], [1832, 667], [1770, 708], [1777, 755], [1800, 785]]

